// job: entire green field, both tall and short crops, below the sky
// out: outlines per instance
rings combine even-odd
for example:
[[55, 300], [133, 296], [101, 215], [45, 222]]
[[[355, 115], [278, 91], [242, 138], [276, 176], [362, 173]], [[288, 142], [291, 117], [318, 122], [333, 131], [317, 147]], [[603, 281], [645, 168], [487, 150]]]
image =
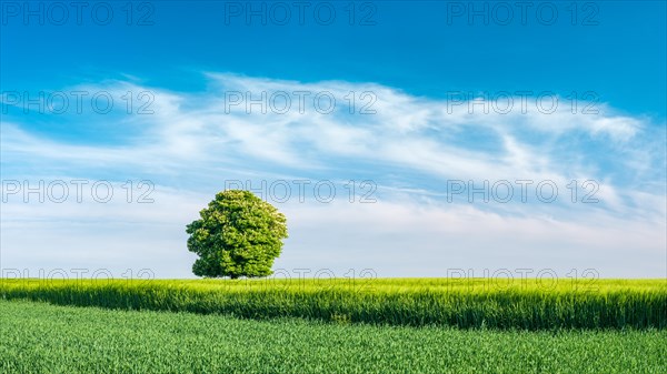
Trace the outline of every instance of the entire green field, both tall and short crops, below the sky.
[[4, 279], [0, 372], [665, 373], [666, 282]]

